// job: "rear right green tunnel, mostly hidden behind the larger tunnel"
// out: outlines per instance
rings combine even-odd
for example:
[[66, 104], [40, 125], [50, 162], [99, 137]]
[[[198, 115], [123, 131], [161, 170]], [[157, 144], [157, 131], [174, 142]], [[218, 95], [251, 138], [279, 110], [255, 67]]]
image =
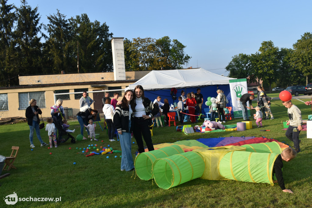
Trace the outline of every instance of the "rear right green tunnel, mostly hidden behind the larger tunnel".
[[275, 141], [258, 144], [246, 144], [242, 145], [241, 147], [245, 147], [247, 152], [276, 153], [276, 154], [280, 154], [282, 152], [282, 150], [280, 149], [280, 145]]

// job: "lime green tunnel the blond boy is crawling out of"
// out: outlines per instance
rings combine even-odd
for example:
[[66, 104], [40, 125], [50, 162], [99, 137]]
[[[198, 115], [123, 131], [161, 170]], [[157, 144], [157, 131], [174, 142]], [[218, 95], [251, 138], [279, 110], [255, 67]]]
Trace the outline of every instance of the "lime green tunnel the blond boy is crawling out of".
[[273, 186], [272, 171], [277, 156], [276, 153], [232, 151], [222, 157], [218, 171], [227, 179]]

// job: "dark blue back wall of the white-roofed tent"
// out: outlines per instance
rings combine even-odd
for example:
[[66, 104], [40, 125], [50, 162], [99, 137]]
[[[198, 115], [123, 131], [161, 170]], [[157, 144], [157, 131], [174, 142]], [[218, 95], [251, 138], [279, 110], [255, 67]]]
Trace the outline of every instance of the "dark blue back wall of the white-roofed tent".
[[[202, 114], [205, 115], [204, 108], [207, 108], [205, 105], [205, 102], [207, 101], [207, 97], [217, 97], [217, 89], [223, 90], [224, 94], [227, 96], [227, 99], [229, 103], [227, 106], [232, 106], [232, 99], [231, 99], [231, 92], [230, 92], [230, 85], [210, 85], [205, 87], [187, 87], [185, 92], [185, 97], [187, 93], [194, 92], [196, 93], [196, 89], [200, 88], [204, 99], [204, 102], [202, 104]], [[185, 88], [177, 89], [177, 99], [173, 101], [171, 95], [170, 95], [170, 89], [162, 89], [162, 90], [156, 90], [156, 91], [146, 91], [144, 90], [144, 96], [149, 98], [152, 102], [157, 98], [157, 96], [161, 97], [161, 102], [163, 103], [163, 100], [165, 98], [168, 99], [169, 104], [173, 104], [173, 102], [178, 103], [178, 97], [181, 96], [181, 91], [185, 91]]]

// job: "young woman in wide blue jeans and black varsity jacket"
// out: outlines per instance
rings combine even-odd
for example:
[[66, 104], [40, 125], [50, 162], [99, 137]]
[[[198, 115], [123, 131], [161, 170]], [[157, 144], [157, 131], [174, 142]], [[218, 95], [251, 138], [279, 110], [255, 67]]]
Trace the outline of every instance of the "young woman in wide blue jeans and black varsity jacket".
[[134, 170], [133, 158], [131, 155], [131, 132], [133, 129], [131, 123], [134, 118], [133, 92], [131, 90], [127, 90], [124, 93], [121, 104], [118, 103], [116, 105], [114, 115], [114, 126], [117, 128], [121, 146], [120, 170], [132, 171]]

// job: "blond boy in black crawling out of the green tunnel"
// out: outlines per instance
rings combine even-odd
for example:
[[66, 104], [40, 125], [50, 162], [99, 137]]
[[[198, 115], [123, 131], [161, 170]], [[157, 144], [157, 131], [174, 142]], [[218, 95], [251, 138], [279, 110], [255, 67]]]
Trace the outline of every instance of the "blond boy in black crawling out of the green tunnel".
[[[288, 147], [280, 155], [277, 156], [274, 165], [273, 165], [273, 173], [275, 173], [275, 177], [277, 180], [273, 180], [273, 183], [278, 183], [282, 191], [288, 192], [293, 194], [294, 192], [290, 191], [289, 189], [285, 189], [284, 179], [283, 179], [283, 161], [289, 162], [297, 156], [297, 152]], [[273, 176], [272, 176], [273, 178]]]

